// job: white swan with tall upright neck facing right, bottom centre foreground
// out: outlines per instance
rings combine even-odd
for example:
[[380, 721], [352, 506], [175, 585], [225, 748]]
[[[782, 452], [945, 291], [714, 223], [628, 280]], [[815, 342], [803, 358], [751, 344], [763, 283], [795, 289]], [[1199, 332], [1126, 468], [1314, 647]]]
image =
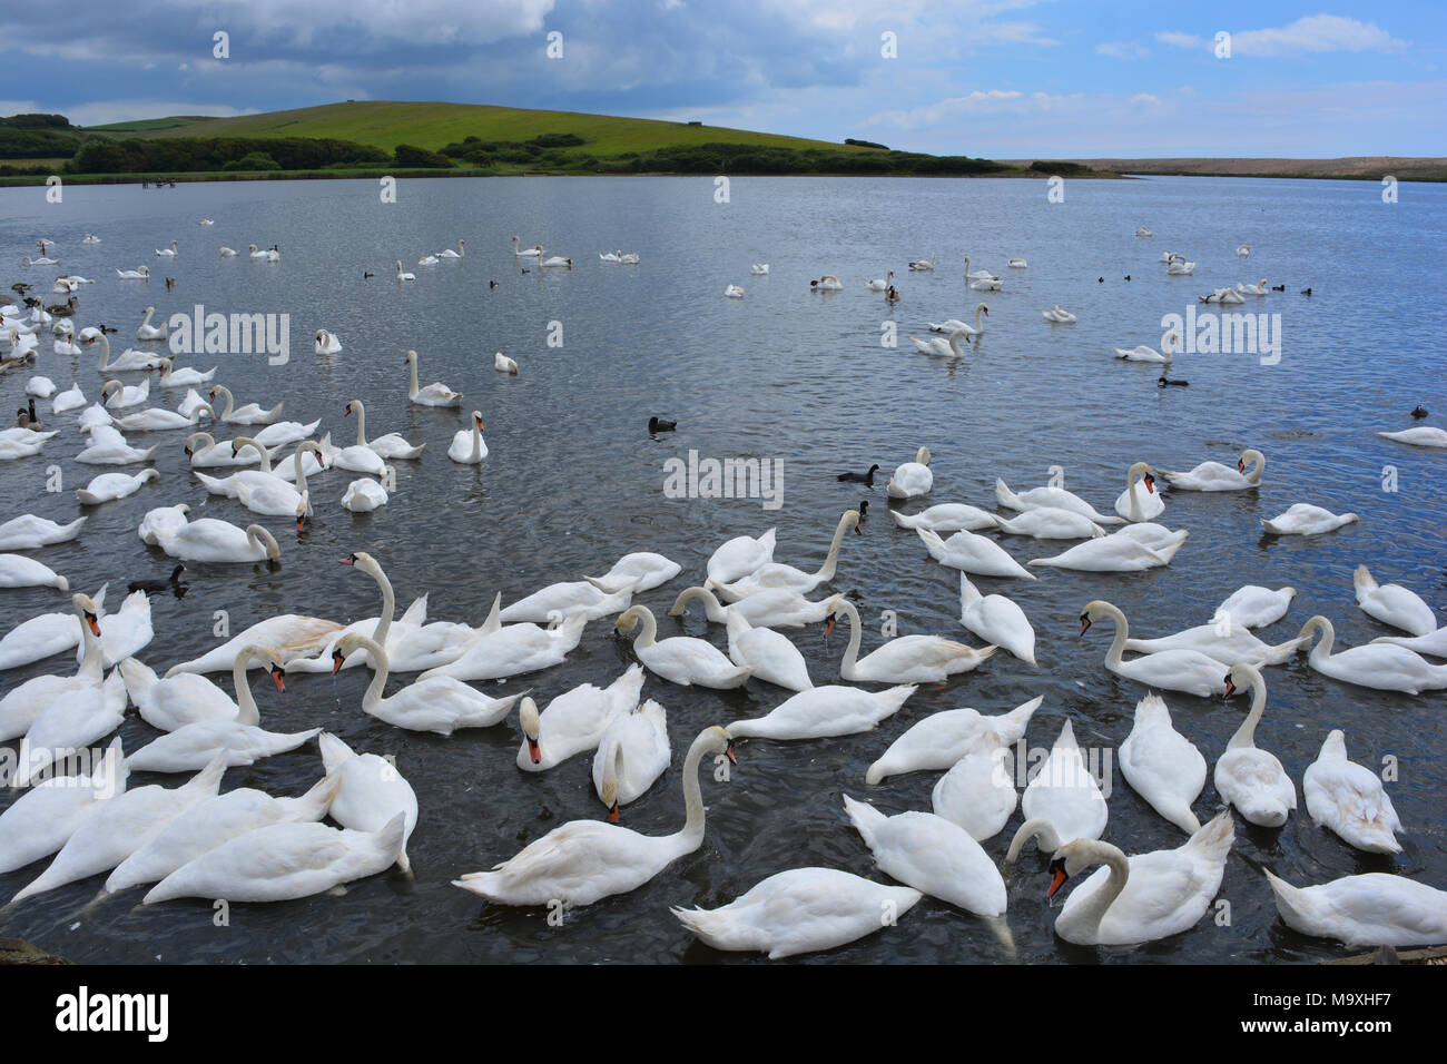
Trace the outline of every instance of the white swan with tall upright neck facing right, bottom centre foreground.
[[[703, 845], [703, 795], [699, 763], [722, 754], [735, 761], [734, 740], [724, 728], [699, 732], [683, 760], [684, 825], [671, 835], [641, 835], [599, 821], [570, 821], [528, 844], [492, 871], [473, 871], [453, 886], [498, 905], [583, 906], [641, 887], [673, 861]], [[878, 921], [878, 909], [874, 911]]]

